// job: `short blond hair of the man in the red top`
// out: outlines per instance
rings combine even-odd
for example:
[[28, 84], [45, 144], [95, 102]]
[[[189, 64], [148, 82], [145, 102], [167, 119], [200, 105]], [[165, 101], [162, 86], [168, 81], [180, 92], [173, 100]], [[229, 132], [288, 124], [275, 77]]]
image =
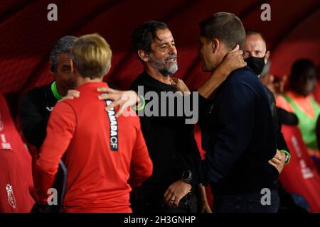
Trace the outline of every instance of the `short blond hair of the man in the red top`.
[[111, 65], [112, 51], [99, 34], [82, 35], [73, 44], [70, 57], [82, 77], [103, 77]]

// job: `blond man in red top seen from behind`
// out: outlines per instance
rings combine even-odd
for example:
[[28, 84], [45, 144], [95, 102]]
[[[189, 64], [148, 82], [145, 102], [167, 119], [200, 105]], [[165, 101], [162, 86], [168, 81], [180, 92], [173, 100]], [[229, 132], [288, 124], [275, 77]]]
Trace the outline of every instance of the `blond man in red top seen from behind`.
[[[97, 34], [80, 37], [70, 52], [81, 96], [58, 102], [34, 175], [36, 200], [48, 204], [58, 162], [68, 168], [64, 212], [132, 212], [131, 187], [150, 177], [152, 162], [134, 112], [115, 117], [111, 101], [97, 99], [110, 70], [112, 52]], [[130, 110], [132, 111], [132, 110]]]

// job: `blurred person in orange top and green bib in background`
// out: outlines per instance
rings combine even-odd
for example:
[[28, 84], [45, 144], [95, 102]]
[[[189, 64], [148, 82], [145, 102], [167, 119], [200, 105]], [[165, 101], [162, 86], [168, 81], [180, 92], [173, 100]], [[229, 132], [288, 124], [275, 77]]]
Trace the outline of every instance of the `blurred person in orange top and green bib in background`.
[[300, 59], [292, 65], [289, 89], [277, 97], [278, 106], [297, 115], [298, 127], [309, 155], [319, 161], [319, 147], [316, 140], [316, 123], [320, 106], [311, 93], [316, 85], [316, 67], [307, 59]]

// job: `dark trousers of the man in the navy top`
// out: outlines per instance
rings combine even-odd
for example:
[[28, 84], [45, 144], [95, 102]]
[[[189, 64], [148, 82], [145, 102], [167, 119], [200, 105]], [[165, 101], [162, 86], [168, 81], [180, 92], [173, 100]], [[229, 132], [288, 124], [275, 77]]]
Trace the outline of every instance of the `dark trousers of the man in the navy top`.
[[[277, 190], [270, 193], [270, 204], [263, 204], [264, 194], [237, 194], [215, 196], [213, 199], [213, 212], [216, 213], [277, 213], [279, 209], [279, 196]], [[265, 201], [265, 200], [264, 200]]]

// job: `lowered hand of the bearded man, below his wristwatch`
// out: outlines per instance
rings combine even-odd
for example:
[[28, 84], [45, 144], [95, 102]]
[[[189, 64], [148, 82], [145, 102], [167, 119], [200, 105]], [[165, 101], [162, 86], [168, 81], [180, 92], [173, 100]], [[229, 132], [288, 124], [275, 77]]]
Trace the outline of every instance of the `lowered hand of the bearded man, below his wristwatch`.
[[164, 192], [164, 201], [170, 207], [178, 207], [180, 200], [190, 192], [192, 186], [181, 180], [171, 184]]

